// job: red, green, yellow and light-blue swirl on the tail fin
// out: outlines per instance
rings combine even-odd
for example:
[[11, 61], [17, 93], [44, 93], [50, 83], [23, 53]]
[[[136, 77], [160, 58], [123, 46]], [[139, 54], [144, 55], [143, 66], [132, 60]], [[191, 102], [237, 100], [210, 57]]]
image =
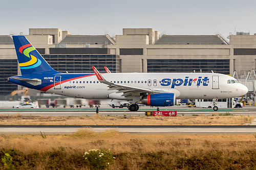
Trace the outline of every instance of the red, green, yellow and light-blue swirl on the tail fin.
[[35, 48], [31, 44], [26, 44], [21, 46], [18, 51], [22, 54], [24, 54], [26, 57], [31, 58], [29, 61], [25, 63], [19, 63], [20, 69], [30, 69], [38, 67], [42, 62], [38, 58], [36, 58], [33, 55], [30, 55], [29, 53], [34, 51]]

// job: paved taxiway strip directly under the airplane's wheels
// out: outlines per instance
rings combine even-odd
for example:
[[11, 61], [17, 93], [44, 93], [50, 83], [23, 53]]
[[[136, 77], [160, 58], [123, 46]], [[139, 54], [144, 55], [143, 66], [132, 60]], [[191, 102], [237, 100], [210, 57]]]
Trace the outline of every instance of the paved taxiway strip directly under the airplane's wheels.
[[[219, 109], [218, 111], [213, 111], [208, 108], [186, 108], [182, 107], [168, 107], [166, 109], [161, 110], [176, 110], [177, 115], [212, 115], [212, 114], [225, 114], [230, 113], [233, 115], [250, 115], [256, 116], [256, 108], [229, 108], [229, 109]], [[254, 109], [255, 108], [255, 109]], [[150, 107], [141, 108], [137, 112], [131, 112], [125, 108], [122, 109], [106, 109], [99, 108], [99, 115], [113, 115], [113, 116], [123, 116], [123, 114], [127, 114], [129, 116], [143, 116], [145, 115], [145, 111], [148, 110], [156, 110], [155, 108], [151, 109]], [[24, 116], [93, 116], [96, 115], [96, 109], [91, 108], [40, 108], [40, 109], [0, 109], [0, 115], [15, 115], [20, 114]]]

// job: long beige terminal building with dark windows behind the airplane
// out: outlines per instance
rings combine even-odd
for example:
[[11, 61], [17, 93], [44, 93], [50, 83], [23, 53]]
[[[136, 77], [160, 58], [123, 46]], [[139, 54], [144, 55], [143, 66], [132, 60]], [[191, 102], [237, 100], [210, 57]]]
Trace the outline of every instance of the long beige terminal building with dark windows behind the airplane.
[[[20, 33], [22, 34], [22, 33]], [[59, 72], [218, 72], [245, 75], [256, 65], [256, 35], [161, 35], [152, 28], [124, 28], [122, 35], [72, 35], [61, 29], [29, 29], [25, 35]], [[0, 95], [20, 74], [11, 35], [0, 35]]]

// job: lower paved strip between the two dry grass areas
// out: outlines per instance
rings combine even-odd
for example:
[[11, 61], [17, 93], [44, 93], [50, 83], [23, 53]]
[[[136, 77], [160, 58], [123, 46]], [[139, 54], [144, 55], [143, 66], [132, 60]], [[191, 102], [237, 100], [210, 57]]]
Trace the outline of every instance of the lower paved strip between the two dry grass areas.
[[0, 125], [1, 134], [72, 134], [80, 128], [135, 134], [256, 134], [256, 126]]

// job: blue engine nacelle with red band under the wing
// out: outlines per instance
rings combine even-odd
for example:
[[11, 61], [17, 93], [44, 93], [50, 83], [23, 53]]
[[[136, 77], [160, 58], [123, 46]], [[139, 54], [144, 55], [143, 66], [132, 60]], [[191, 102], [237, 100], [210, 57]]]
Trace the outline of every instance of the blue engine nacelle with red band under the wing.
[[174, 93], [157, 93], [145, 95], [141, 103], [150, 106], [174, 106], [176, 104], [176, 95]]

